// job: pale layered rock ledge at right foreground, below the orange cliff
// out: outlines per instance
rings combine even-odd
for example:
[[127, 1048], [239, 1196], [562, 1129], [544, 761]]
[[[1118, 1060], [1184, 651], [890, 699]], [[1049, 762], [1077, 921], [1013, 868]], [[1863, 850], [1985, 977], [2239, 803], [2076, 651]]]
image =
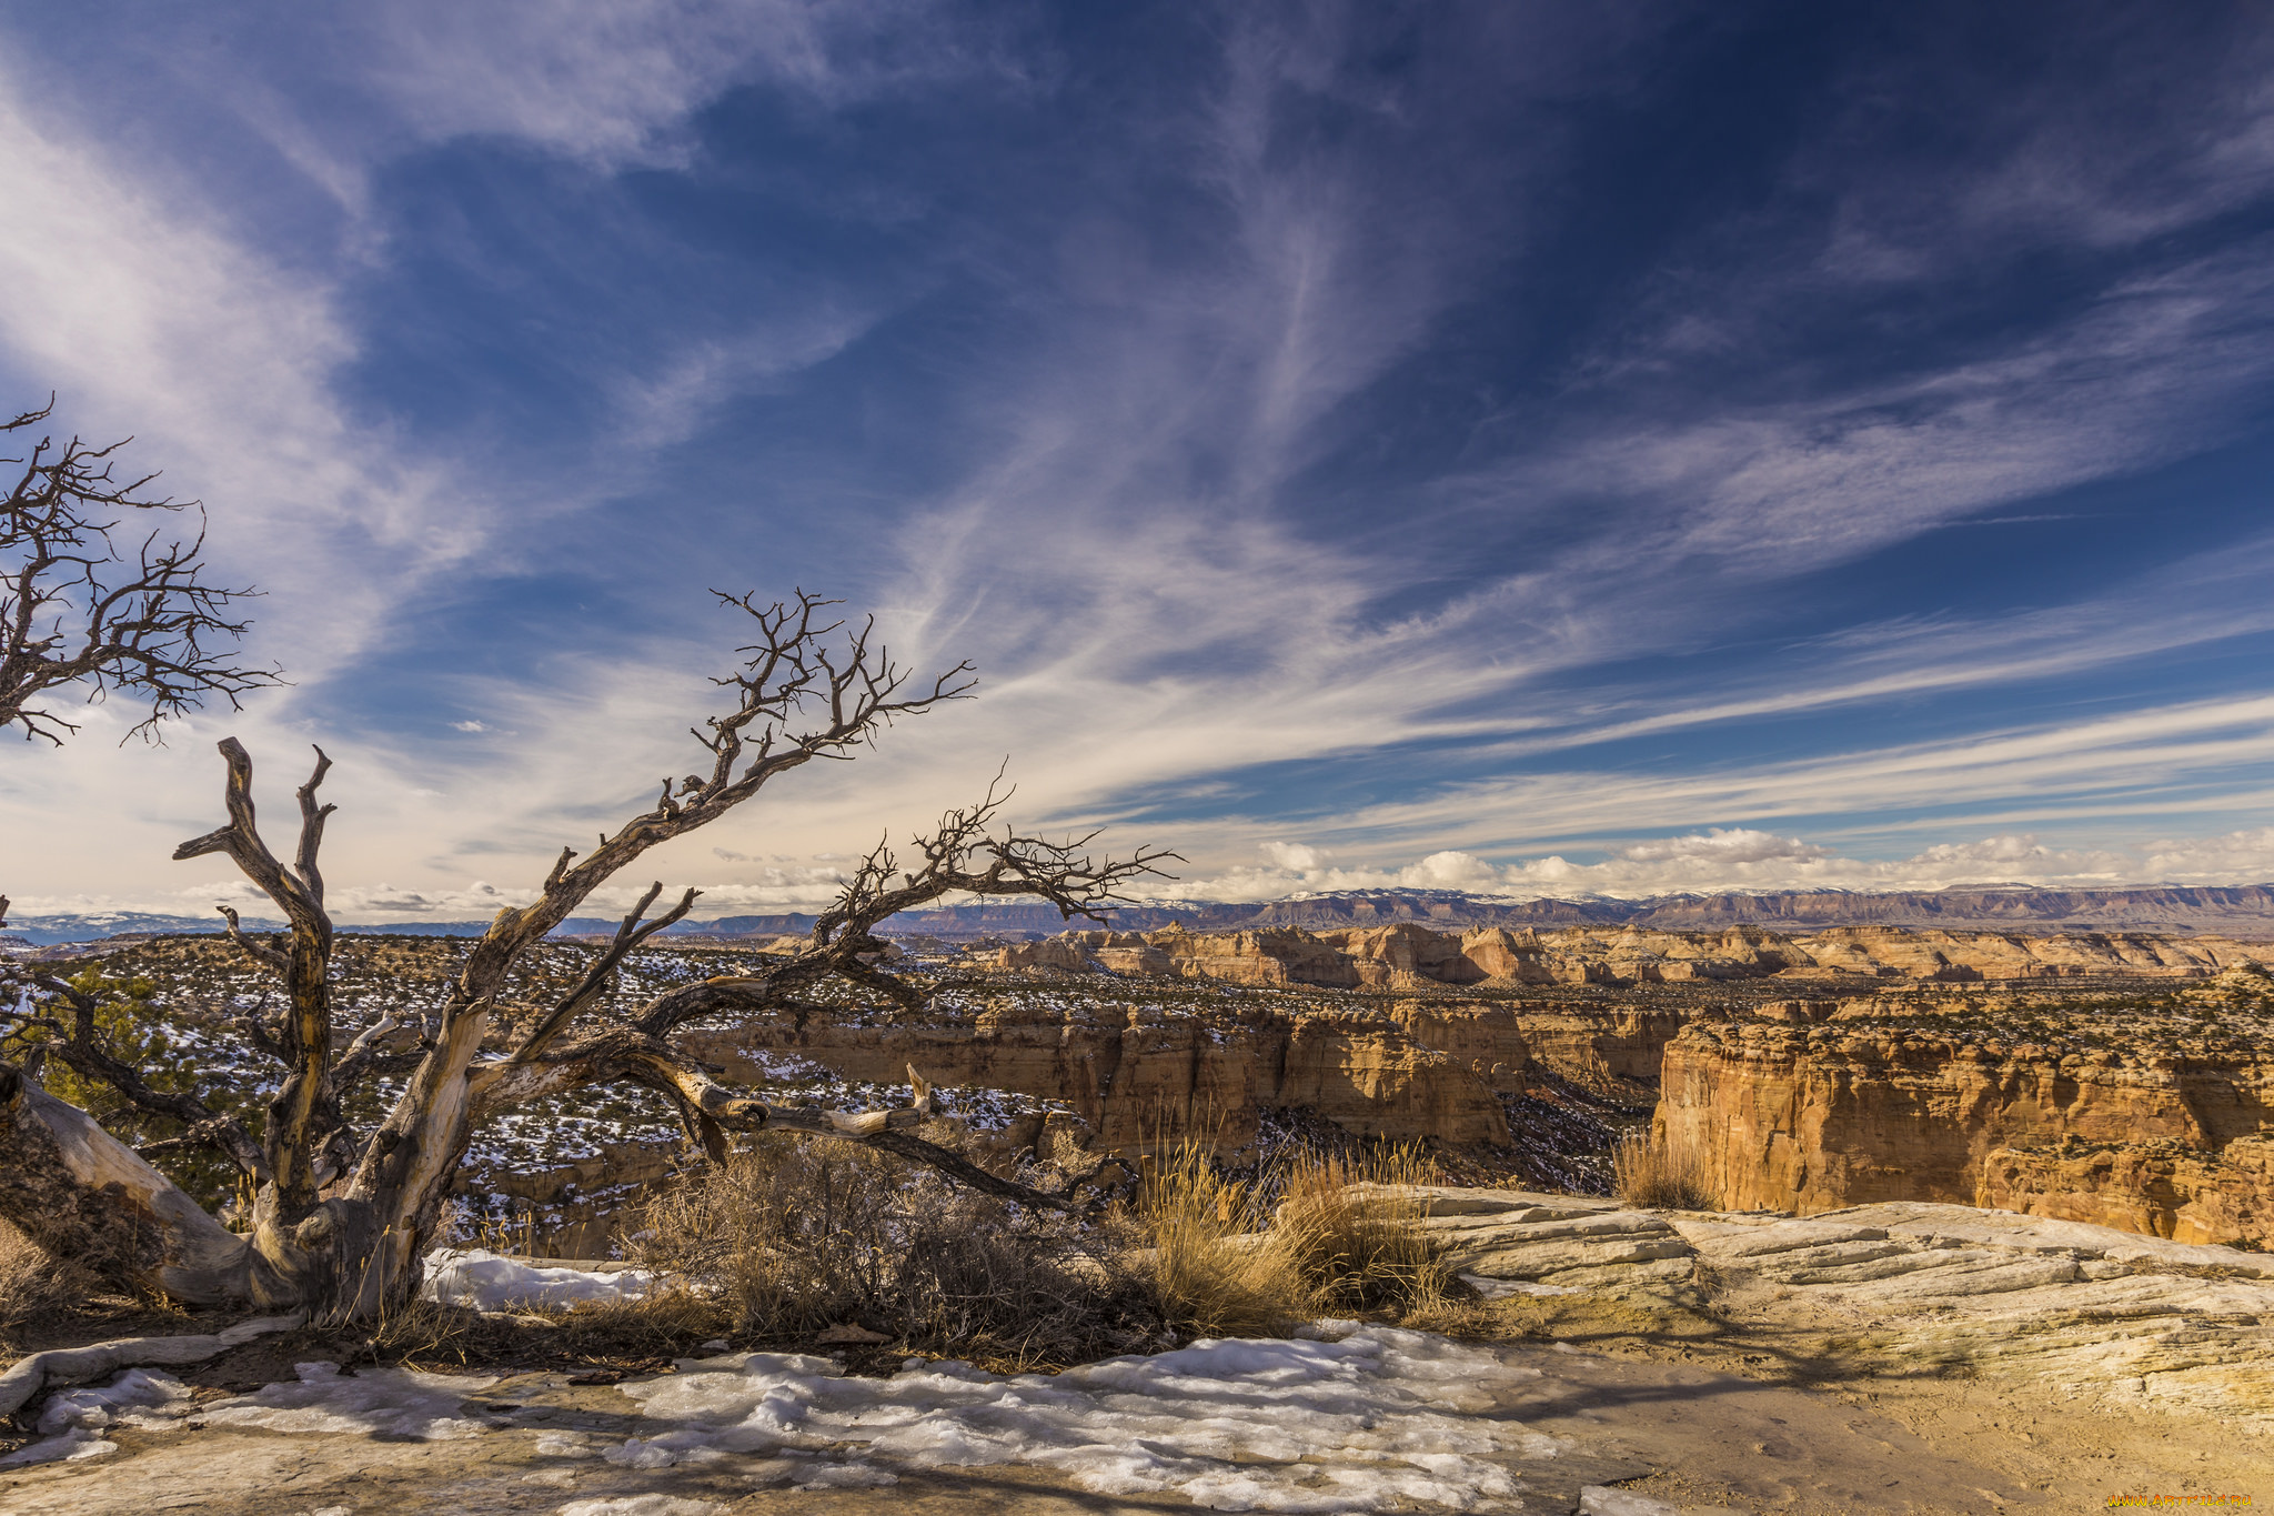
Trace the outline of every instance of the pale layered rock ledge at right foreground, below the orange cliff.
[[1819, 1361], [2033, 1380], [2094, 1409], [2274, 1432], [2274, 1257], [1958, 1205], [1812, 1218], [1405, 1191], [1485, 1296], [1687, 1298]]

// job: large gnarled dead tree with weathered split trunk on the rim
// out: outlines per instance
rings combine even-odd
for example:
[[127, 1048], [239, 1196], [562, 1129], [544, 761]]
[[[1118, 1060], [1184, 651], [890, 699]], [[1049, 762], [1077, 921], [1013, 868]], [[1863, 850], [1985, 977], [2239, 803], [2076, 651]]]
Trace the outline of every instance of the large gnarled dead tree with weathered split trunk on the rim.
[[[866, 625], [848, 630], [828, 620], [823, 607], [832, 602], [803, 591], [789, 605], [721, 600], [748, 614], [757, 636], [739, 650], [748, 659], [741, 670], [719, 680], [732, 691], [732, 709], [694, 734], [709, 750], [707, 773], [664, 780], [653, 807], [603, 834], [582, 859], [564, 848], [537, 900], [498, 911], [443, 1005], [423, 1025], [407, 1027], [409, 1048], [391, 1041], [405, 1030], [387, 1021], [352, 1041], [334, 1030], [332, 918], [318, 868], [334, 809], [318, 800], [330, 759], [318, 750], [298, 791], [300, 834], [284, 864], [255, 823], [252, 759], [236, 739], [223, 741], [227, 823], [182, 843], [175, 857], [227, 855], [289, 923], [284, 934], [262, 941], [223, 911], [230, 936], [284, 982], [282, 1014], [248, 1027], [255, 1046], [284, 1068], [264, 1130], [255, 1134], [196, 1096], [150, 1089], [136, 1068], [100, 1046], [96, 998], [30, 964], [0, 964], [0, 1018], [39, 1025], [48, 1032], [48, 1057], [102, 1080], [141, 1111], [177, 1121], [182, 1136], [173, 1141], [225, 1155], [252, 1186], [250, 1232], [225, 1230], [139, 1152], [7, 1064], [0, 1064], [0, 1216], [50, 1252], [86, 1259], [118, 1282], [175, 1300], [368, 1318], [416, 1289], [443, 1200], [482, 1123], [539, 1098], [605, 1084], [662, 1093], [714, 1157], [725, 1150], [728, 1132], [812, 1132], [889, 1148], [996, 1193], [1060, 1205], [919, 1139], [912, 1127], [921, 1109], [773, 1107], [716, 1082], [714, 1071], [675, 1041], [682, 1027], [703, 1018], [785, 1014], [832, 977], [921, 1014], [923, 996], [864, 957], [885, 946], [875, 927], [896, 911], [971, 893], [1035, 896], [1064, 918], [1101, 918], [1105, 902], [1119, 900], [1128, 882], [1157, 873], [1155, 864], [1169, 857], [1139, 850], [1130, 859], [1094, 861], [1082, 855], [1087, 836], [1021, 836], [998, 825], [1003, 796], [994, 789], [978, 805], [951, 811], [907, 857], [878, 846], [812, 939], [760, 973], [680, 986], [630, 1016], [600, 1016], [603, 991], [625, 955], [696, 902], [696, 891], [687, 891], [648, 918], [662, 896], [655, 884], [566, 998], [509, 1021], [500, 1016], [498, 998], [514, 961], [641, 852], [725, 816], [791, 768], [848, 759], [896, 718], [962, 698], [973, 686], [966, 664], [928, 684], [910, 684], [907, 673], [871, 645]], [[7, 1000], [16, 1009], [5, 1009]], [[525, 1030], [500, 1046], [505, 1025]], [[380, 1073], [407, 1073], [407, 1086], [377, 1130], [355, 1132], [341, 1116], [341, 1098]], [[921, 1105], [921, 1089], [916, 1093]]]

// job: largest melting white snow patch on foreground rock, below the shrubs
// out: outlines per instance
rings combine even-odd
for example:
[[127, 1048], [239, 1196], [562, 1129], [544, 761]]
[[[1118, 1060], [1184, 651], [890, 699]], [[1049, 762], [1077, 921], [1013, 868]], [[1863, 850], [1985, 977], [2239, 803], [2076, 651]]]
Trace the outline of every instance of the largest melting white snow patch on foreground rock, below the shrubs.
[[607, 1459], [664, 1468], [828, 1448], [846, 1461], [798, 1471], [800, 1489], [880, 1484], [891, 1475], [878, 1464], [1032, 1464], [1107, 1496], [1180, 1493], [1226, 1511], [1412, 1500], [1514, 1509], [1505, 1461], [1555, 1457], [1565, 1443], [1478, 1414], [1499, 1386], [1533, 1377], [1492, 1352], [1394, 1327], [1342, 1341], [1198, 1341], [1019, 1377], [941, 1361], [857, 1380], [828, 1359], [748, 1352], [619, 1386], [680, 1427], [634, 1436]]

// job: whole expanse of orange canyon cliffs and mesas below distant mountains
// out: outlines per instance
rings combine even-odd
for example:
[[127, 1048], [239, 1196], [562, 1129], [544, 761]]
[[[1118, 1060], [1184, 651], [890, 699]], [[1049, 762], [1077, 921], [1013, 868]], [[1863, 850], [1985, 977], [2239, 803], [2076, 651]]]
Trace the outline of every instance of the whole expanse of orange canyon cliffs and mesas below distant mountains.
[[1396, 923], [921, 946], [896, 961], [939, 984], [921, 1025], [816, 1009], [703, 1032], [703, 1057], [864, 1098], [916, 1068], [1003, 1155], [1198, 1136], [1239, 1161], [1310, 1123], [1603, 1191], [1646, 1121], [1731, 1211], [1949, 1202], [2274, 1248], [2267, 943]]

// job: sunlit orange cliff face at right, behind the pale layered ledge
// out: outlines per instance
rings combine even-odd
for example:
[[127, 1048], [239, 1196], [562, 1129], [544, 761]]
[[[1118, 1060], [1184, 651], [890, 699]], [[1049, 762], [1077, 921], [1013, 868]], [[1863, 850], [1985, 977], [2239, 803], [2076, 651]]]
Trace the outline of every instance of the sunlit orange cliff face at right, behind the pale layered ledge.
[[1699, 1021], [1665, 1050], [1655, 1136], [1699, 1157], [1724, 1209], [1942, 1200], [2274, 1243], [2265, 1041], [2185, 1011], [2049, 1030], [1821, 1009], [1821, 1025]]

